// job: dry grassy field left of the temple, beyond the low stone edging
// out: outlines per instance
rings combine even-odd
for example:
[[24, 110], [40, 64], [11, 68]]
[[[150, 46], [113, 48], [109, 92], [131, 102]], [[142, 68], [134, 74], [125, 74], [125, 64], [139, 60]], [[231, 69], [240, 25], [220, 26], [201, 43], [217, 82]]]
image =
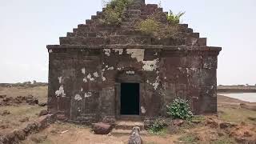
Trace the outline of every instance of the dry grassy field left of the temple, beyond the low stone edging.
[[[18, 96], [33, 95], [38, 98], [39, 102], [46, 102], [47, 100], [47, 86], [38, 87], [0, 87], [0, 95], [7, 95], [7, 97], [16, 98]], [[5, 134], [11, 130], [26, 126], [28, 122], [33, 122], [38, 118], [38, 113], [46, 107], [38, 105], [30, 106], [26, 104], [18, 106], [0, 106], [0, 114], [4, 110], [9, 110], [9, 115], [0, 115], [0, 126], [7, 126], [6, 129], [0, 127], [0, 134]], [[20, 120], [28, 118], [28, 122], [20, 122]]]

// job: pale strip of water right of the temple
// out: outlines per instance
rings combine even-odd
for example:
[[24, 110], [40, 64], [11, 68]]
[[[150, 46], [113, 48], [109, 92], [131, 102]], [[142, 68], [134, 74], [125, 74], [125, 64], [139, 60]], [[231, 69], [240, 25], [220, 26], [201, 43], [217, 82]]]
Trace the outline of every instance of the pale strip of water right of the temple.
[[220, 94], [230, 98], [237, 98], [246, 102], [256, 102], [256, 93], [232, 93], [232, 94], [220, 93]]

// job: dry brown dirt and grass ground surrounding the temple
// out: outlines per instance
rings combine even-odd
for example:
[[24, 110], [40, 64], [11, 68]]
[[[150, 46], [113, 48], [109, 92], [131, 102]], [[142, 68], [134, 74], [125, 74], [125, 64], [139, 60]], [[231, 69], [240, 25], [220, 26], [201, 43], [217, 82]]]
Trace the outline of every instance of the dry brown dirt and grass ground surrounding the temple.
[[[47, 87], [0, 87], [0, 95], [6, 94], [7, 97], [26, 96], [32, 94], [38, 98], [39, 102], [46, 102]], [[225, 130], [205, 125], [205, 118], [214, 117], [225, 122], [240, 124], [246, 122], [251, 130], [256, 132], [256, 113], [253, 110], [240, 108], [242, 101], [225, 96], [218, 96], [218, 117], [204, 116], [202, 124], [184, 126], [175, 134], [166, 130], [160, 135], [149, 134], [142, 136], [144, 144], [170, 144], [170, 143], [237, 143], [234, 138], [230, 138]], [[243, 102], [246, 103], [246, 102]], [[10, 114], [1, 115], [4, 110], [9, 110]], [[18, 105], [1, 106], [0, 109], [0, 135], [25, 126], [27, 122], [33, 122], [38, 118], [38, 113], [46, 110], [46, 107], [38, 105]], [[25, 121], [24, 121], [25, 120]], [[245, 132], [246, 133], [246, 132]], [[247, 134], [247, 133], [246, 133]], [[46, 130], [38, 134], [30, 135], [22, 144], [126, 144], [129, 135], [97, 135], [91, 132], [90, 127], [77, 126], [70, 123], [56, 122]]]

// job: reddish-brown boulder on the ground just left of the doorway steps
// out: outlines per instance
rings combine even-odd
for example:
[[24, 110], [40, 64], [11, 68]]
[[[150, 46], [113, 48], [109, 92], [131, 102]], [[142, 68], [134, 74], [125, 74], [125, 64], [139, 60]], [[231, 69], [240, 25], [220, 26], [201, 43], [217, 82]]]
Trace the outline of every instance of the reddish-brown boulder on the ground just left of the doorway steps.
[[94, 123], [93, 130], [95, 134], [109, 134], [111, 126], [103, 122]]

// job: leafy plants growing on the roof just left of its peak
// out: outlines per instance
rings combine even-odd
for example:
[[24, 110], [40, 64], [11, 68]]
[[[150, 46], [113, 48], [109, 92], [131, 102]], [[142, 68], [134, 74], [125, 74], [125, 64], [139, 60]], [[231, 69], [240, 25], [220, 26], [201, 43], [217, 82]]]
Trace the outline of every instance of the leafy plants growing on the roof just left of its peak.
[[132, 4], [133, 0], [111, 0], [106, 4], [102, 22], [107, 25], [118, 25], [122, 22], [123, 11]]

